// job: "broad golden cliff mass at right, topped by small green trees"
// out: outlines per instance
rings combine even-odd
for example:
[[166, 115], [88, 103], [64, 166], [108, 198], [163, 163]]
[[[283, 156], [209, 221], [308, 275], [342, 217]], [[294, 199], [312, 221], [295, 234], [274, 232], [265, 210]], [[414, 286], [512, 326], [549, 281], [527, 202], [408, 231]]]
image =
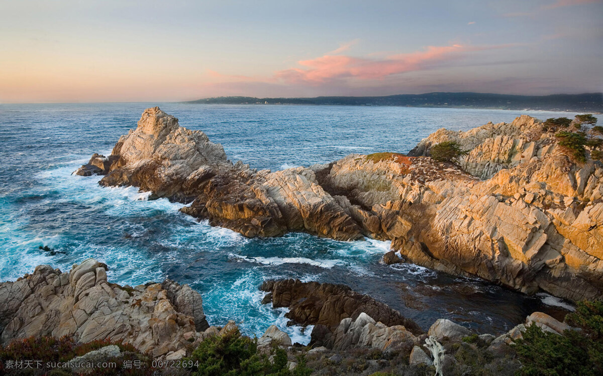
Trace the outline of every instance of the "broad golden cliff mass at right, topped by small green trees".
[[[472, 150], [459, 164], [432, 144]], [[540, 122], [522, 116], [468, 132], [441, 129], [406, 161], [351, 155], [317, 173], [345, 192], [368, 236], [391, 239], [408, 262], [532, 293], [603, 297], [603, 165], [573, 163]], [[506, 146], [505, 146], [506, 145]]]

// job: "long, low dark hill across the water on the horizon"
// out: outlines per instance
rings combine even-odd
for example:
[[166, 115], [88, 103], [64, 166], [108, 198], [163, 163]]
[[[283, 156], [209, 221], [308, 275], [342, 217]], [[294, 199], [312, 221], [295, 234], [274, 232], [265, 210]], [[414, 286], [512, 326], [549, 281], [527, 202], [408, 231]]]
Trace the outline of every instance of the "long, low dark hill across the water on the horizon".
[[603, 112], [603, 93], [554, 94], [546, 96], [488, 93], [399, 94], [383, 97], [256, 98], [214, 97], [185, 103], [408, 106], [493, 109], [537, 109], [545, 111]]

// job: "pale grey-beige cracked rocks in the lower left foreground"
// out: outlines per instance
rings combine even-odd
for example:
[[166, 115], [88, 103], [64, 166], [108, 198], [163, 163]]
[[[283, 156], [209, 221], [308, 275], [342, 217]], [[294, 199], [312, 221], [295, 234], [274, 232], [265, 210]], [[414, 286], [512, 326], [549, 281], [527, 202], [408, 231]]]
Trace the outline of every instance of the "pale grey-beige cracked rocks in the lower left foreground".
[[186, 349], [208, 327], [201, 295], [172, 281], [119, 286], [107, 265], [87, 259], [62, 273], [40, 265], [33, 274], [0, 284], [0, 341], [29, 336], [74, 336], [80, 342], [110, 337], [153, 357]]

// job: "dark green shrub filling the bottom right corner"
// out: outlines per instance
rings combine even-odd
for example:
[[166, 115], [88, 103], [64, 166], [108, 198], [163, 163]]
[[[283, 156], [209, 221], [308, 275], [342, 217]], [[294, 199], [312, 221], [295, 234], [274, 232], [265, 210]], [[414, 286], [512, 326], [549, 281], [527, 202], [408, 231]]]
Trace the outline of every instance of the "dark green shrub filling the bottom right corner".
[[603, 374], [603, 303], [579, 302], [566, 321], [579, 330], [560, 336], [531, 325], [511, 345], [523, 365], [519, 375]]

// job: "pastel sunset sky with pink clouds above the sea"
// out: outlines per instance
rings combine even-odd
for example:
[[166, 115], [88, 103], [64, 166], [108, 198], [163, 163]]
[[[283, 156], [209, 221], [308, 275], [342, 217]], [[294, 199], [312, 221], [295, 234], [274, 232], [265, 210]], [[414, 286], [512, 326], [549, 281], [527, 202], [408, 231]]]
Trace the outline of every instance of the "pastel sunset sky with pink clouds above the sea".
[[603, 91], [603, 0], [0, 0], [0, 103]]

